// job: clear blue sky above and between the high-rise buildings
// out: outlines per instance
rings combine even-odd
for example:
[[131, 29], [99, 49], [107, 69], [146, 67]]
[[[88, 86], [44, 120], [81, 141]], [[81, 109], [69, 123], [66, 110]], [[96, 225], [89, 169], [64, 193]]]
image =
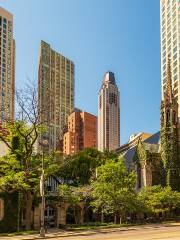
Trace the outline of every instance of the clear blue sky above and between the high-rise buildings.
[[75, 105], [97, 114], [103, 75], [121, 95], [121, 143], [156, 132], [160, 107], [159, 0], [0, 0], [14, 15], [16, 85], [36, 80], [40, 41], [75, 63]]

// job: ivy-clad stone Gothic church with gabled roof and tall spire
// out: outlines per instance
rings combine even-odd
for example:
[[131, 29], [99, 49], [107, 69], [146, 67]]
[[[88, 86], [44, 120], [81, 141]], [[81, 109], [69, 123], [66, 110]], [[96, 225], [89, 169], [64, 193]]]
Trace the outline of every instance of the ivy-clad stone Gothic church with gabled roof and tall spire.
[[162, 185], [180, 191], [180, 123], [178, 99], [172, 89], [170, 59], [160, 107], [160, 131], [154, 135], [141, 133], [135, 139], [122, 145], [117, 152], [124, 156], [126, 167], [135, 170], [136, 189]]

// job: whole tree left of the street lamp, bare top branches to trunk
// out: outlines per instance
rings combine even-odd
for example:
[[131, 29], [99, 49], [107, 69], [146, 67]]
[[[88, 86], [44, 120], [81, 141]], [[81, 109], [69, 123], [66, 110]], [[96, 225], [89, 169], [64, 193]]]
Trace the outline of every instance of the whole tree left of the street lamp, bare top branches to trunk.
[[36, 87], [27, 86], [16, 92], [17, 119], [6, 121], [0, 140], [9, 149], [0, 159], [0, 189], [19, 191], [25, 203], [26, 229], [31, 229], [34, 188], [39, 181], [40, 159], [34, 155], [34, 145], [45, 131], [38, 111]]

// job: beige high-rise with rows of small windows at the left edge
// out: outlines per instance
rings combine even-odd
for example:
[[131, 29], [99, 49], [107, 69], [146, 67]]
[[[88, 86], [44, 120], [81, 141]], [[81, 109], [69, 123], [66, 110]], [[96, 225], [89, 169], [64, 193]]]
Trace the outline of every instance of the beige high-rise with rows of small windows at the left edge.
[[14, 119], [14, 89], [13, 15], [0, 7], [0, 122]]

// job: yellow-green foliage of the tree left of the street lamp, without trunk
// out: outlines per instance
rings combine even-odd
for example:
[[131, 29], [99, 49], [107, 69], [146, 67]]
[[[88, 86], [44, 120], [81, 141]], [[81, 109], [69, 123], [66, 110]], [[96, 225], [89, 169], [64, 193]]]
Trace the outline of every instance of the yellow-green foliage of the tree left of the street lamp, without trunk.
[[26, 141], [19, 134], [19, 131], [26, 134], [29, 129], [24, 124], [15, 122], [7, 130], [7, 141], [11, 148], [9, 153], [0, 159], [0, 189], [7, 192], [32, 190], [37, 184], [40, 160], [32, 156], [30, 140]]

